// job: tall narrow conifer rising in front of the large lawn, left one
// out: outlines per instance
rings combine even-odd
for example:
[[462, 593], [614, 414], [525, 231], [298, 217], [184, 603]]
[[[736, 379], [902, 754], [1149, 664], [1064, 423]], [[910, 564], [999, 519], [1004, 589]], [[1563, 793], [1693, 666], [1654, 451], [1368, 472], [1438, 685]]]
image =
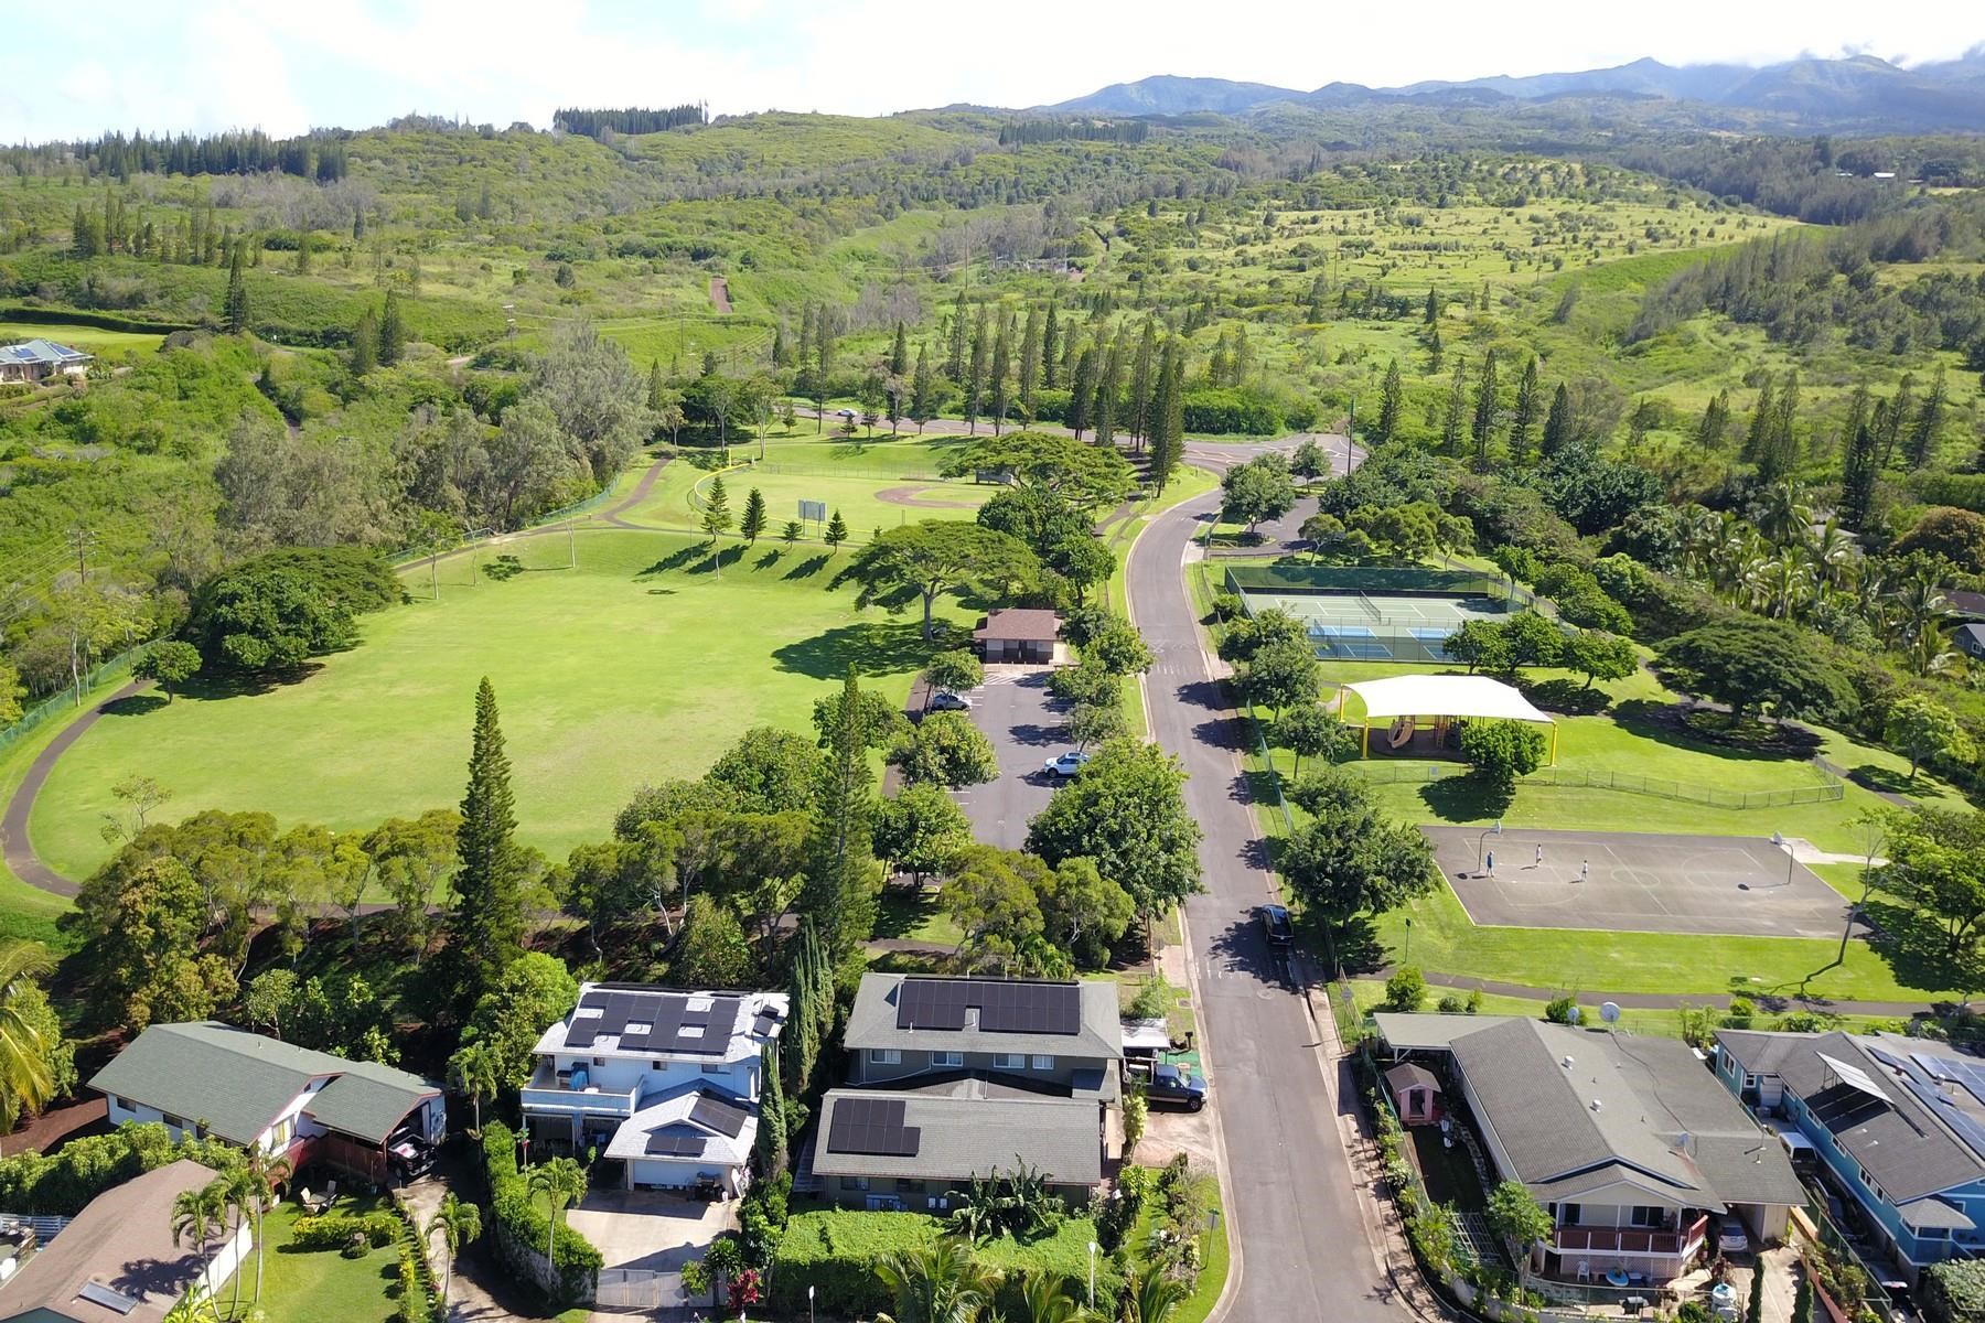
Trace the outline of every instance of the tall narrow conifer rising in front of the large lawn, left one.
[[455, 829], [457, 902], [449, 916], [464, 1006], [472, 1006], [524, 952], [524, 861], [514, 833], [516, 799], [496, 716], [496, 688], [482, 676], [468, 789], [463, 791], [463, 821]]

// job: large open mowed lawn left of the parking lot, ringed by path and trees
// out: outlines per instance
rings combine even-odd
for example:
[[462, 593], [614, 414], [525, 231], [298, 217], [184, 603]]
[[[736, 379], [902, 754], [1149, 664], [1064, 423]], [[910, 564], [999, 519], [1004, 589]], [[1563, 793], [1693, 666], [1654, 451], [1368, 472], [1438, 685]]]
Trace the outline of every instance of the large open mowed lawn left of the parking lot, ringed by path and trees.
[[[528, 569], [474, 585], [464, 557], [445, 561], [439, 603], [367, 617], [361, 647], [300, 682], [107, 716], [50, 776], [36, 849], [85, 877], [109, 849], [111, 785], [133, 774], [173, 791], [159, 819], [266, 809], [355, 829], [455, 805], [486, 674], [520, 835], [564, 857], [603, 837], [635, 787], [699, 776], [746, 726], [810, 730], [814, 700], [850, 666], [905, 696], [927, 653], [915, 605], [856, 611], [854, 587], [830, 587], [846, 549], [727, 543], [713, 571], [695, 538], [582, 530], [576, 547], [572, 571], [564, 536], [512, 541], [494, 551]], [[409, 567], [407, 585], [425, 595], [427, 569]]]

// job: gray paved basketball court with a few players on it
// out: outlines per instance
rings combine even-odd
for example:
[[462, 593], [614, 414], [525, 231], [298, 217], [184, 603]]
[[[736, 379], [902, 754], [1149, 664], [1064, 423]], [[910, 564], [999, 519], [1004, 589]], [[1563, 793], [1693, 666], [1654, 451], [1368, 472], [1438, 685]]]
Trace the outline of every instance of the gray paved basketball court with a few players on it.
[[1846, 899], [1763, 837], [1421, 831], [1483, 926], [1838, 938], [1846, 922]]

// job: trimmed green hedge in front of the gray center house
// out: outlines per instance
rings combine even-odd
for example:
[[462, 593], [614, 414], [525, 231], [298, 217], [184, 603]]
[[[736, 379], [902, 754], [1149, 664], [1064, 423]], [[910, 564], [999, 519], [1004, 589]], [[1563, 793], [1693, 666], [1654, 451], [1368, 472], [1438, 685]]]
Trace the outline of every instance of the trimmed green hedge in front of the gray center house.
[[[921, 1212], [824, 1212], [794, 1214], [772, 1260], [772, 1309], [792, 1315], [806, 1311], [806, 1287], [818, 1291], [820, 1313], [871, 1317], [895, 1305], [875, 1275], [875, 1265], [891, 1254], [927, 1250], [945, 1238], [945, 1224]], [[994, 1299], [1006, 1317], [1020, 1317], [1020, 1285], [1048, 1273], [1088, 1289], [1090, 1242], [1096, 1224], [1066, 1218], [1052, 1234], [1020, 1242], [989, 1240], [973, 1254], [987, 1267], [1004, 1273]], [[1116, 1299], [1124, 1275], [1110, 1256], [1096, 1256], [1096, 1299]]]

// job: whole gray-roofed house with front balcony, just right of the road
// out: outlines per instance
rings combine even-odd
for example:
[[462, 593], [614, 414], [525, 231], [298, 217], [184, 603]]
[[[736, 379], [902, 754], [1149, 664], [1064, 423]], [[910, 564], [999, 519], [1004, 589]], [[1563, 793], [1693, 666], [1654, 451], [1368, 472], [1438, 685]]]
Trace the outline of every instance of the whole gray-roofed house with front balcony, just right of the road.
[[1804, 1190], [1779, 1141], [1687, 1043], [1507, 1016], [1390, 1016], [1397, 1059], [1435, 1063], [1501, 1180], [1550, 1212], [1532, 1267], [1564, 1281], [1659, 1285], [1715, 1250], [1711, 1220], [1785, 1236]]

